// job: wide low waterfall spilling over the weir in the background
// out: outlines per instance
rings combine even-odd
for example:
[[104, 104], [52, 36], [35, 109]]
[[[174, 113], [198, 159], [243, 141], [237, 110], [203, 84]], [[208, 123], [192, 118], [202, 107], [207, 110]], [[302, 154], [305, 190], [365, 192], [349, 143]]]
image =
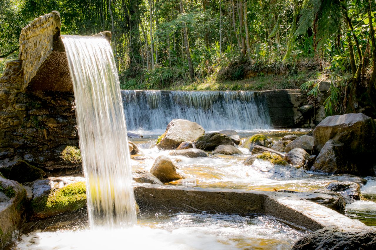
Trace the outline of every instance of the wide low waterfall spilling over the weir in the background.
[[173, 119], [199, 123], [205, 131], [268, 129], [264, 96], [250, 91], [122, 90], [129, 130], [165, 130]]

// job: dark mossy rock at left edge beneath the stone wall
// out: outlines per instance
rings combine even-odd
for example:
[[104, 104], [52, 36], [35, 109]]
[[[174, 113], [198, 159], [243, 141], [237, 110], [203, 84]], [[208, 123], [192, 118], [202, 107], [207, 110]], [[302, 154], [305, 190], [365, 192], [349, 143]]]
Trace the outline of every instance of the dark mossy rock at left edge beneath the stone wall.
[[38, 167], [35, 167], [26, 161], [18, 160], [15, 164], [9, 167], [3, 167], [0, 169], [1, 174], [11, 180], [23, 182], [32, 182], [36, 179], [41, 179], [45, 175], [45, 172]]

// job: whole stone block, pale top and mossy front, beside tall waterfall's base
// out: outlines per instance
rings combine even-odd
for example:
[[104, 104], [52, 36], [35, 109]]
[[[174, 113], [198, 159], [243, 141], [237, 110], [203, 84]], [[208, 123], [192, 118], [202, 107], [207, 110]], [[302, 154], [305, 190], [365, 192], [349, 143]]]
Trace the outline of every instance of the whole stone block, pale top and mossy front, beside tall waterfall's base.
[[29, 185], [33, 191], [30, 203], [32, 220], [75, 211], [86, 206], [86, 186], [83, 177], [50, 177], [36, 180]]

